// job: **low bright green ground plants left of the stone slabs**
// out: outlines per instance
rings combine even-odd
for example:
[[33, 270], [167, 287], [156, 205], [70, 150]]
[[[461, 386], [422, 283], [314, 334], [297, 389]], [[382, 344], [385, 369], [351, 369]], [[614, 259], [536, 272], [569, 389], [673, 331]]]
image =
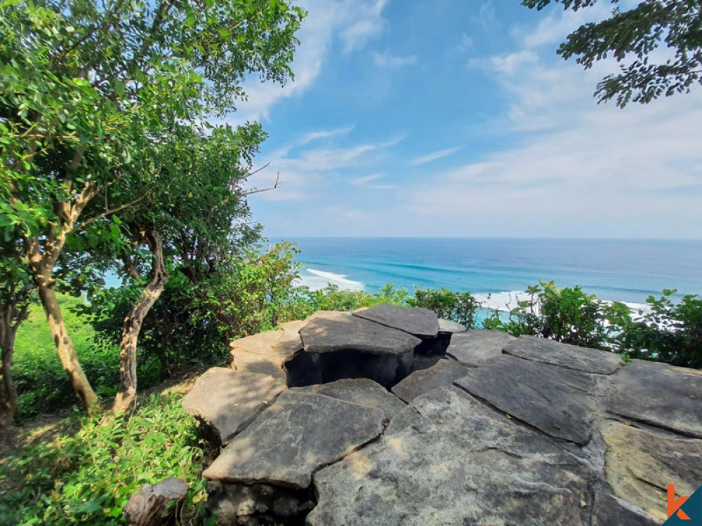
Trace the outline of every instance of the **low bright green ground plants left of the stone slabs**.
[[0, 462], [0, 523], [118, 525], [131, 494], [180, 477], [190, 488], [180, 523], [204, 515], [203, 450], [180, 397], [152, 394], [129, 419], [84, 419], [79, 431], [12, 452]]

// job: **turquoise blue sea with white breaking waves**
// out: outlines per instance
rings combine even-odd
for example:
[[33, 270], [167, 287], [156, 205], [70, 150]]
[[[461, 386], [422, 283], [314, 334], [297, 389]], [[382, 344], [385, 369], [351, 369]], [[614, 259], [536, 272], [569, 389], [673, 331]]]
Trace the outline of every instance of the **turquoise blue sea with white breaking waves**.
[[[377, 292], [468, 291], [496, 308], [528, 285], [581, 285], [600, 299], [643, 304], [677, 288], [702, 293], [702, 241], [505, 238], [286, 238], [301, 250], [300, 283]], [[489, 295], [489, 297], [488, 297]]]

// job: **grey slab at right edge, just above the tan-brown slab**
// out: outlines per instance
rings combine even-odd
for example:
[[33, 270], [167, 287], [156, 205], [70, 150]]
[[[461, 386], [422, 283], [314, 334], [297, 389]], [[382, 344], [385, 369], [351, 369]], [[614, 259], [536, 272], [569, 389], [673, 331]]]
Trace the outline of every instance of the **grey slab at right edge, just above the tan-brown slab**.
[[632, 360], [612, 382], [615, 414], [702, 438], [702, 371]]

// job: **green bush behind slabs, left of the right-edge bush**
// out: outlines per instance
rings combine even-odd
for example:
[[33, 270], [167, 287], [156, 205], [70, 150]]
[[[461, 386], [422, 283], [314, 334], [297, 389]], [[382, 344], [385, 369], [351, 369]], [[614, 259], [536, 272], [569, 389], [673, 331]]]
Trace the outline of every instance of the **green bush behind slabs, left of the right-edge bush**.
[[489, 329], [504, 330], [515, 336], [536, 335], [557, 342], [614, 349], [618, 336], [630, 321], [629, 308], [619, 302], [602, 302], [583, 289], [559, 289], [541, 281], [527, 288], [527, 297], [510, 309], [505, 320], [499, 313], [486, 318]]

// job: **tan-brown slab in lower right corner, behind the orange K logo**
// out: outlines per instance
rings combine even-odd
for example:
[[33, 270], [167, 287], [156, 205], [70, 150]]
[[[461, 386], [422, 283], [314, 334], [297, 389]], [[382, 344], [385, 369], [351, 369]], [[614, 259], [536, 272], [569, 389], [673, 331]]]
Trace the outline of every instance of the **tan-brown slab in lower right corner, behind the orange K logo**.
[[675, 484], [678, 497], [702, 485], [702, 440], [661, 436], [609, 421], [602, 425], [607, 444], [604, 473], [616, 496], [668, 518], [666, 489]]

